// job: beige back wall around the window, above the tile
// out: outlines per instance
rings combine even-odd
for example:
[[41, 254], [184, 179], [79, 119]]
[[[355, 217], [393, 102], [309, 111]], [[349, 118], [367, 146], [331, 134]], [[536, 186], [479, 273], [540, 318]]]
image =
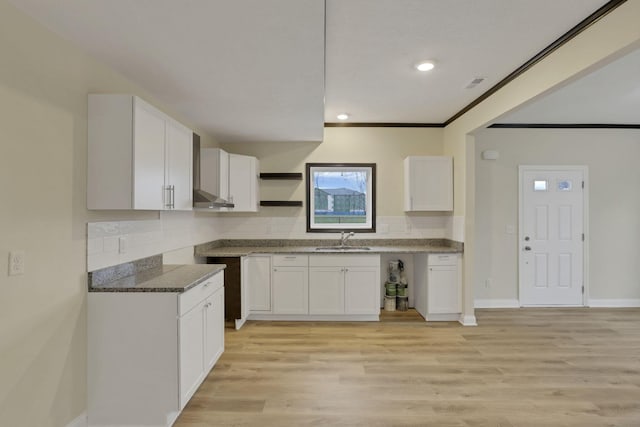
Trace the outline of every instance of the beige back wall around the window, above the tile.
[[[322, 143], [223, 144], [232, 153], [260, 159], [262, 172], [305, 172], [305, 163], [376, 163], [377, 215], [403, 216], [403, 160], [442, 155], [441, 128], [325, 128]], [[263, 198], [304, 200], [304, 182], [263, 181]], [[291, 212], [291, 211], [290, 211]], [[279, 215], [264, 209], [262, 215]], [[304, 215], [299, 209], [289, 215]]]

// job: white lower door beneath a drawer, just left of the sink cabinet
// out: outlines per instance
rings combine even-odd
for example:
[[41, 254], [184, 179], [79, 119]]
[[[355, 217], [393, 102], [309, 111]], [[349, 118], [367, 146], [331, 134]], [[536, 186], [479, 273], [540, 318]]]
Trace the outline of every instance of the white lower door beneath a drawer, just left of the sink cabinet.
[[308, 268], [274, 267], [271, 273], [271, 286], [273, 313], [309, 313]]

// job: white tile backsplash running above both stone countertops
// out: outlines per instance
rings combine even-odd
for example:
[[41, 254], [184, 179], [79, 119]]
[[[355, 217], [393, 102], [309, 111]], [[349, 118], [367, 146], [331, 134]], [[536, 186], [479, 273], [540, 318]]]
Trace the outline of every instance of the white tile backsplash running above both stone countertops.
[[[464, 220], [446, 214], [379, 216], [377, 232], [355, 239], [439, 239], [464, 241]], [[87, 224], [87, 271], [134, 261], [217, 239], [334, 239], [338, 233], [307, 233], [298, 216], [161, 212], [159, 219]]]

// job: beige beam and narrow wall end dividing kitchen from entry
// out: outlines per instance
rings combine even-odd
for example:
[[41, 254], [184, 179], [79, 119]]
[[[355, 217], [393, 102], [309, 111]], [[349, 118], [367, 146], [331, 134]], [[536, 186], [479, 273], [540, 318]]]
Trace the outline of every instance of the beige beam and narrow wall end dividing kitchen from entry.
[[463, 315], [474, 316], [475, 195], [473, 132], [538, 96], [579, 78], [640, 45], [640, 1], [623, 3], [529, 71], [445, 128], [444, 152], [454, 157], [454, 215], [465, 218]]

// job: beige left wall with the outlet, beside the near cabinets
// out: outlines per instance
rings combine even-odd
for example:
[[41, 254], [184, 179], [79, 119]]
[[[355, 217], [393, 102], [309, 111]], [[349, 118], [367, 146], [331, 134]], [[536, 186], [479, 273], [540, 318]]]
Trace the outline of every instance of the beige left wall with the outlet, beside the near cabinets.
[[65, 426], [86, 408], [86, 223], [159, 217], [85, 209], [87, 93], [162, 105], [4, 0], [0, 52], [0, 424]]

